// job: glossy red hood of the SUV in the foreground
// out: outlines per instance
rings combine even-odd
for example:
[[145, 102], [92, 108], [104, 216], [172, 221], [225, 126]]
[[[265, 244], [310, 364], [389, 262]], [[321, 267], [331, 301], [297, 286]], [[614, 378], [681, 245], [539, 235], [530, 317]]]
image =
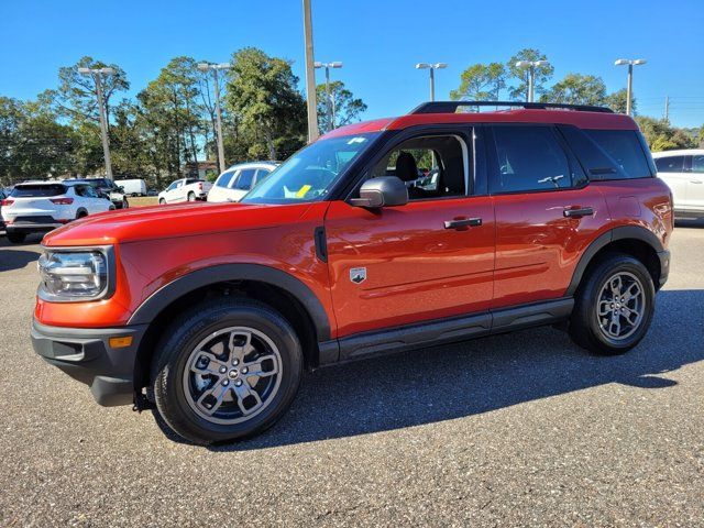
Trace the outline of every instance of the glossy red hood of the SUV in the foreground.
[[46, 234], [43, 243], [48, 246], [105, 245], [265, 229], [295, 222], [310, 206], [186, 202], [139, 207], [76, 220]]

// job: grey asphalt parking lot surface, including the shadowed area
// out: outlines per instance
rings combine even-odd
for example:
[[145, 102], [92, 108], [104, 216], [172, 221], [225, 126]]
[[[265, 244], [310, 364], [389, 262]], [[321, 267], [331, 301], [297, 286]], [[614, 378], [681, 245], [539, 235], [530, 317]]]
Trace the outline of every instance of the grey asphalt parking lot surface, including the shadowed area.
[[32, 351], [38, 239], [0, 238], [2, 526], [704, 526], [704, 224], [629, 354], [553, 329], [321, 370], [204, 449]]

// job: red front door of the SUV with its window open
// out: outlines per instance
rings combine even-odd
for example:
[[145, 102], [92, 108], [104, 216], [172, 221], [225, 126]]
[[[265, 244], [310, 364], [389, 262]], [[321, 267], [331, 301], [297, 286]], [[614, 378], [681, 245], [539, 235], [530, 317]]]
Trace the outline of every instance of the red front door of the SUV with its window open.
[[406, 182], [409, 202], [326, 215], [339, 337], [488, 310], [494, 271], [491, 197], [470, 196], [471, 134], [418, 135], [388, 148], [369, 177]]

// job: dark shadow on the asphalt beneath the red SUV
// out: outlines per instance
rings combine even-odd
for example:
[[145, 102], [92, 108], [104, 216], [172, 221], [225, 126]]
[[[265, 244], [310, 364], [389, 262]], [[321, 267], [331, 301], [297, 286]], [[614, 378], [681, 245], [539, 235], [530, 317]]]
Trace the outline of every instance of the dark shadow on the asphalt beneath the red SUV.
[[388, 431], [610, 383], [667, 389], [676, 385], [669, 372], [704, 360], [702, 314], [704, 290], [659, 293], [648, 336], [619, 356], [591, 355], [566, 333], [539, 328], [321, 369], [304, 378], [273, 429], [209, 449], [245, 451]]

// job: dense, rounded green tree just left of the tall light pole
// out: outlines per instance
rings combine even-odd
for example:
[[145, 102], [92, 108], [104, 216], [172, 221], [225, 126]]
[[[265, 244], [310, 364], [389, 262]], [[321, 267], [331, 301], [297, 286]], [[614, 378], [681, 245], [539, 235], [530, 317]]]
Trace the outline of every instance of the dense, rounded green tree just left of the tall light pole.
[[305, 144], [306, 102], [290, 63], [255, 47], [234, 53], [226, 107], [251, 158], [286, 157]]

